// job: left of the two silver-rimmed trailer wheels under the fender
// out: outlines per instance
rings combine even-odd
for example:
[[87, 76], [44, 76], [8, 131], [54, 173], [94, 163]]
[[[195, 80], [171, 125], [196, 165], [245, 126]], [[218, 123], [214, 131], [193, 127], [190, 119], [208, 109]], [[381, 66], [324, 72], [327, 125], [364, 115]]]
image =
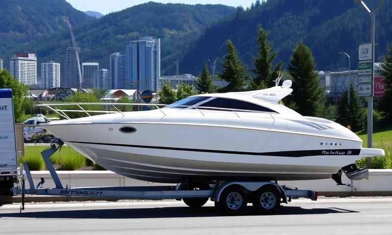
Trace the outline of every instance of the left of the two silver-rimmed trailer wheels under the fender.
[[219, 199], [219, 209], [228, 214], [238, 214], [245, 210], [247, 197], [244, 188], [230, 186], [223, 190]]

